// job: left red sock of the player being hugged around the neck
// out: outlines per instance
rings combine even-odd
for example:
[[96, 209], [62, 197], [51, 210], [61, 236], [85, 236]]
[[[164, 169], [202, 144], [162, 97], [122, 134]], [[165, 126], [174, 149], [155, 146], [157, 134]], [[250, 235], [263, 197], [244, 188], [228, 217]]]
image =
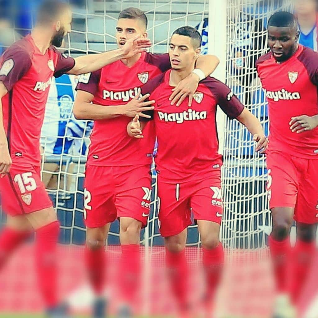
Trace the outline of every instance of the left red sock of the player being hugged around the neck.
[[172, 253], [166, 248], [166, 266], [179, 309], [185, 310], [188, 306], [188, 265], [185, 249], [179, 253]]

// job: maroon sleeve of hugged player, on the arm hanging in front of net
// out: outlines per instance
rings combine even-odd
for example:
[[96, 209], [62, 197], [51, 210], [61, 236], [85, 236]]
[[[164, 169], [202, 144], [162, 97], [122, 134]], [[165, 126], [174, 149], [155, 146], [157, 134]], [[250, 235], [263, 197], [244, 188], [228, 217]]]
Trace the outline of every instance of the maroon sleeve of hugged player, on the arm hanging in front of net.
[[230, 119], [237, 118], [242, 113], [244, 105], [224, 83], [213, 77], [207, 77], [201, 83], [210, 89], [218, 105]]

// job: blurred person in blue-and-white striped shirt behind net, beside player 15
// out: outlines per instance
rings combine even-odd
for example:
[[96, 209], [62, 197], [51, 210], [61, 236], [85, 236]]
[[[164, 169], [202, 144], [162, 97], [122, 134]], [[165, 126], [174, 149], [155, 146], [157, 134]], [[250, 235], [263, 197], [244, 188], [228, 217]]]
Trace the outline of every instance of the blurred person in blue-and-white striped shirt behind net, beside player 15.
[[[85, 158], [88, 149], [93, 123], [77, 120], [73, 116], [76, 84], [75, 76], [65, 74], [57, 79], [53, 78], [50, 87], [41, 131], [41, 152], [44, 154], [42, 179], [48, 189], [58, 188], [57, 173], [61, 162], [62, 169], [66, 166], [68, 170], [66, 162], [70, 163], [72, 156]], [[67, 172], [72, 173], [69, 170]], [[67, 183], [70, 184], [71, 180], [70, 178]], [[67, 184], [64, 187], [69, 190]]]

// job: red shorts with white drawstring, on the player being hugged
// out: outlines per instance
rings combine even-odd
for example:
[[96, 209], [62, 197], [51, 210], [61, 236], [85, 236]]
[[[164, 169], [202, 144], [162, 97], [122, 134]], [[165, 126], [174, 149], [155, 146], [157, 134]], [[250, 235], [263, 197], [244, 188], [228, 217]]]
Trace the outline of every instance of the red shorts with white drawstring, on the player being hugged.
[[195, 220], [221, 224], [221, 171], [202, 171], [203, 180], [174, 182], [158, 175], [159, 224], [163, 237], [181, 233]]

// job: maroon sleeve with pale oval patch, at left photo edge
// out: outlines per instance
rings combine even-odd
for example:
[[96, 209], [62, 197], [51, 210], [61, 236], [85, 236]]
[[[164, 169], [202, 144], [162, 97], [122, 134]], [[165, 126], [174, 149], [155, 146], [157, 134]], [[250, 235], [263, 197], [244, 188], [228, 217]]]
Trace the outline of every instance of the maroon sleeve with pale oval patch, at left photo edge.
[[3, 53], [0, 59], [0, 81], [8, 92], [29, 71], [31, 65], [30, 53], [20, 46], [13, 45]]

